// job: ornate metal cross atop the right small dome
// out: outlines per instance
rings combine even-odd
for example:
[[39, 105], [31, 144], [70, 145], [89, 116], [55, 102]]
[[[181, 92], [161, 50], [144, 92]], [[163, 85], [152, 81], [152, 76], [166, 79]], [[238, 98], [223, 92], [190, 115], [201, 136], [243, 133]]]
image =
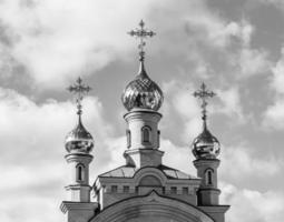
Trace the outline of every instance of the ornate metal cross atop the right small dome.
[[202, 100], [202, 114], [203, 114], [202, 118], [204, 121], [204, 128], [206, 128], [206, 119], [207, 119], [207, 110], [206, 110], [206, 107], [208, 104], [207, 100], [215, 95], [216, 95], [215, 92], [207, 90], [207, 87], [204, 82], [202, 83], [200, 89], [194, 92], [194, 97]]

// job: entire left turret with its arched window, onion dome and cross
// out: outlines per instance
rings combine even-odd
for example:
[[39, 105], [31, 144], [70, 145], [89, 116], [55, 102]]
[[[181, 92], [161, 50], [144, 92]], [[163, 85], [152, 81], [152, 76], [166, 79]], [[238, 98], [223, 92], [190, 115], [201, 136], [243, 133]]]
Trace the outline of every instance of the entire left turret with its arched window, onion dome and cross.
[[65, 159], [69, 165], [71, 180], [66, 186], [68, 199], [61, 203], [60, 209], [67, 213], [68, 222], [87, 222], [97, 208], [97, 203], [90, 202], [91, 186], [89, 185], [89, 164], [92, 161], [90, 152], [94, 148], [94, 139], [81, 122], [81, 101], [90, 88], [84, 85], [79, 78], [76, 84], [69, 87], [68, 90], [77, 95], [78, 124], [67, 134], [65, 141], [67, 150]]

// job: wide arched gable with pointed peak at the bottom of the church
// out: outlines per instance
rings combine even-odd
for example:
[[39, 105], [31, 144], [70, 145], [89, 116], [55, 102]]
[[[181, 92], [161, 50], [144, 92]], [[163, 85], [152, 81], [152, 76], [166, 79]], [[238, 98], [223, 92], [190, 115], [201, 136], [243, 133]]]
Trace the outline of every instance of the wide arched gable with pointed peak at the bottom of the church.
[[158, 195], [155, 191], [117, 202], [90, 222], [214, 222], [203, 211], [188, 203]]

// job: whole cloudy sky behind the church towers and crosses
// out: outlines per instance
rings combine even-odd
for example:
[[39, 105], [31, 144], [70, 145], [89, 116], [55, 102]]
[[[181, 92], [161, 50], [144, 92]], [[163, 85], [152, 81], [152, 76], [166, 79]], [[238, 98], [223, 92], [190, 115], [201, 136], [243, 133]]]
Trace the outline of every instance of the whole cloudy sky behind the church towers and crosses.
[[196, 174], [192, 141], [202, 130], [204, 81], [209, 130], [218, 138], [221, 202], [227, 222], [284, 219], [284, 1], [0, 0], [0, 221], [65, 221], [65, 137], [76, 125], [66, 90], [80, 75], [92, 91], [82, 121], [95, 139], [90, 181], [125, 163], [120, 95], [138, 71], [144, 19], [157, 36], [146, 70], [165, 97], [164, 164]]

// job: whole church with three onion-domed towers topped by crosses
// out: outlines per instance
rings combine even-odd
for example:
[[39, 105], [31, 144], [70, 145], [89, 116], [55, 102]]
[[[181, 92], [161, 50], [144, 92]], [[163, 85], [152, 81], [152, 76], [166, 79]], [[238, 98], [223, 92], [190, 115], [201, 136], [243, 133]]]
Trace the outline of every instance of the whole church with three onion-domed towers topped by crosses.
[[60, 205], [66, 221], [225, 222], [229, 205], [219, 204], [217, 185], [221, 145], [207, 127], [207, 100], [215, 93], [204, 83], [194, 92], [202, 101], [203, 119], [203, 131], [192, 144], [193, 164], [197, 171], [193, 174], [197, 175], [166, 165], [158, 127], [164, 95], [145, 68], [145, 39], [155, 32], [145, 29], [141, 21], [129, 34], [139, 39], [139, 70], [121, 95], [127, 125], [125, 152], [121, 153], [125, 164], [109, 169], [91, 184], [89, 164], [95, 145], [81, 121], [81, 100], [90, 88], [80, 78], [69, 87], [69, 91], [77, 94], [78, 124], [65, 142], [65, 159], [71, 173], [71, 181], [66, 186], [68, 199]]

